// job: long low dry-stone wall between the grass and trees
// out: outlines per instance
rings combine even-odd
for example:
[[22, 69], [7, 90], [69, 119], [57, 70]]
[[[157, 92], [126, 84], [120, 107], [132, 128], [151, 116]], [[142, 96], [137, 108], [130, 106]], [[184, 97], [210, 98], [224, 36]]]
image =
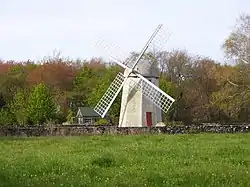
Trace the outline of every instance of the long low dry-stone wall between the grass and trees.
[[28, 126], [28, 127], [0, 127], [0, 136], [79, 136], [102, 134], [194, 134], [194, 133], [247, 133], [250, 124], [200, 124], [190, 126], [166, 126], [166, 127], [126, 127], [116, 126], [79, 126], [79, 125], [54, 125]]

